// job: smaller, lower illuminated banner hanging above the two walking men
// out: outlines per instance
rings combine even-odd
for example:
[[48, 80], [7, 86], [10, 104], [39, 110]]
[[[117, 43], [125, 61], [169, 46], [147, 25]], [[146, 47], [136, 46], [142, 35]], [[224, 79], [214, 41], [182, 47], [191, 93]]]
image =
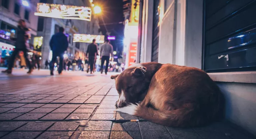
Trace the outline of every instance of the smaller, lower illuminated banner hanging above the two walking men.
[[96, 43], [104, 43], [104, 38], [104, 35], [74, 34], [73, 42], [92, 43], [92, 40], [95, 39]]

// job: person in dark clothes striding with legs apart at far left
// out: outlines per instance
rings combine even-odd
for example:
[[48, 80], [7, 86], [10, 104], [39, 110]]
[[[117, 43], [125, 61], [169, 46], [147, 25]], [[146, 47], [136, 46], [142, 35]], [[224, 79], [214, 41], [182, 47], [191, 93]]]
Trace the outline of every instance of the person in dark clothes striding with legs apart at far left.
[[28, 74], [30, 74], [33, 71], [32, 65], [28, 59], [28, 49], [26, 47], [26, 43], [28, 41], [28, 34], [27, 32], [29, 31], [29, 29], [26, 27], [26, 22], [25, 20], [20, 19], [19, 20], [19, 25], [18, 25], [18, 29], [17, 29], [17, 38], [15, 39], [15, 49], [12, 53], [12, 55], [10, 56], [9, 62], [8, 62], [8, 69], [2, 71], [2, 73], [8, 73], [11, 74], [12, 73], [12, 67], [14, 64], [14, 60], [15, 57], [18, 55], [19, 51], [23, 51], [24, 53], [24, 57], [27, 63], [27, 66], [29, 67], [29, 71], [27, 72]]

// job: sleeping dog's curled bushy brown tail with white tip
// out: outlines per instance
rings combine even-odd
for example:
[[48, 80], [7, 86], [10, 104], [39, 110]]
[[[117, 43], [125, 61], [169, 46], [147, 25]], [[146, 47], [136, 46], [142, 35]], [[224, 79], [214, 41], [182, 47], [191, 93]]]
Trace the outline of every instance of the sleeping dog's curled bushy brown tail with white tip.
[[150, 122], [172, 127], [193, 127], [205, 124], [206, 122], [206, 120], [200, 118], [193, 109], [177, 109], [172, 111], [155, 110], [151, 107], [143, 107], [139, 104], [130, 104], [126, 107], [116, 109], [115, 111], [128, 113]]

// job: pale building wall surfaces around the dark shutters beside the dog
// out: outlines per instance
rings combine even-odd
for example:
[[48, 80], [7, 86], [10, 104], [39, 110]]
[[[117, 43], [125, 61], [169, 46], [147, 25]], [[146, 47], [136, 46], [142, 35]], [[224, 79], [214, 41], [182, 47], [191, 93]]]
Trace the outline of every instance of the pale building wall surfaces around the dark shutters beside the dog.
[[[145, 3], [149, 2], [149, 0], [145, 1]], [[161, 1], [161, 7], [165, 7], [164, 1]], [[158, 62], [201, 69], [203, 0], [167, 0], [166, 5], [166, 8], [161, 8], [163, 11], [166, 10], [165, 13], [161, 13]], [[144, 11], [148, 12], [147, 5], [143, 7]], [[146, 58], [150, 53], [145, 51], [152, 45], [145, 45], [146, 40], [150, 39], [147, 35], [152, 32], [150, 28], [146, 28], [150, 26], [150, 22], [146, 22], [151, 20], [149, 18], [142, 17], [144, 31], [142, 30], [142, 42], [139, 44], [141, 62], [151, 60]], [[227, 77], [227, 74], [232, 74], [229, 80], [223, 78]], [[213, 80], [218, 81], [216, 83], [225, 96], [226, 119], [256, 135], [256, 72], [209, 73], [209, 75]]]

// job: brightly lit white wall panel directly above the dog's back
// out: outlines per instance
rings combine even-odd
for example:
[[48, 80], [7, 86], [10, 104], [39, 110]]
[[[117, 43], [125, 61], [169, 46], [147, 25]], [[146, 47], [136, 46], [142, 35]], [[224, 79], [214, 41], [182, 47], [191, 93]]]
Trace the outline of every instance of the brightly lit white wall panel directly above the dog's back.
[[[161, 0], [158, 62], [185, 65], [186, 0]], [[165, 10], [166, 8], [166, 10]], [[165, 13], [164, 13], [165, 10]]]

